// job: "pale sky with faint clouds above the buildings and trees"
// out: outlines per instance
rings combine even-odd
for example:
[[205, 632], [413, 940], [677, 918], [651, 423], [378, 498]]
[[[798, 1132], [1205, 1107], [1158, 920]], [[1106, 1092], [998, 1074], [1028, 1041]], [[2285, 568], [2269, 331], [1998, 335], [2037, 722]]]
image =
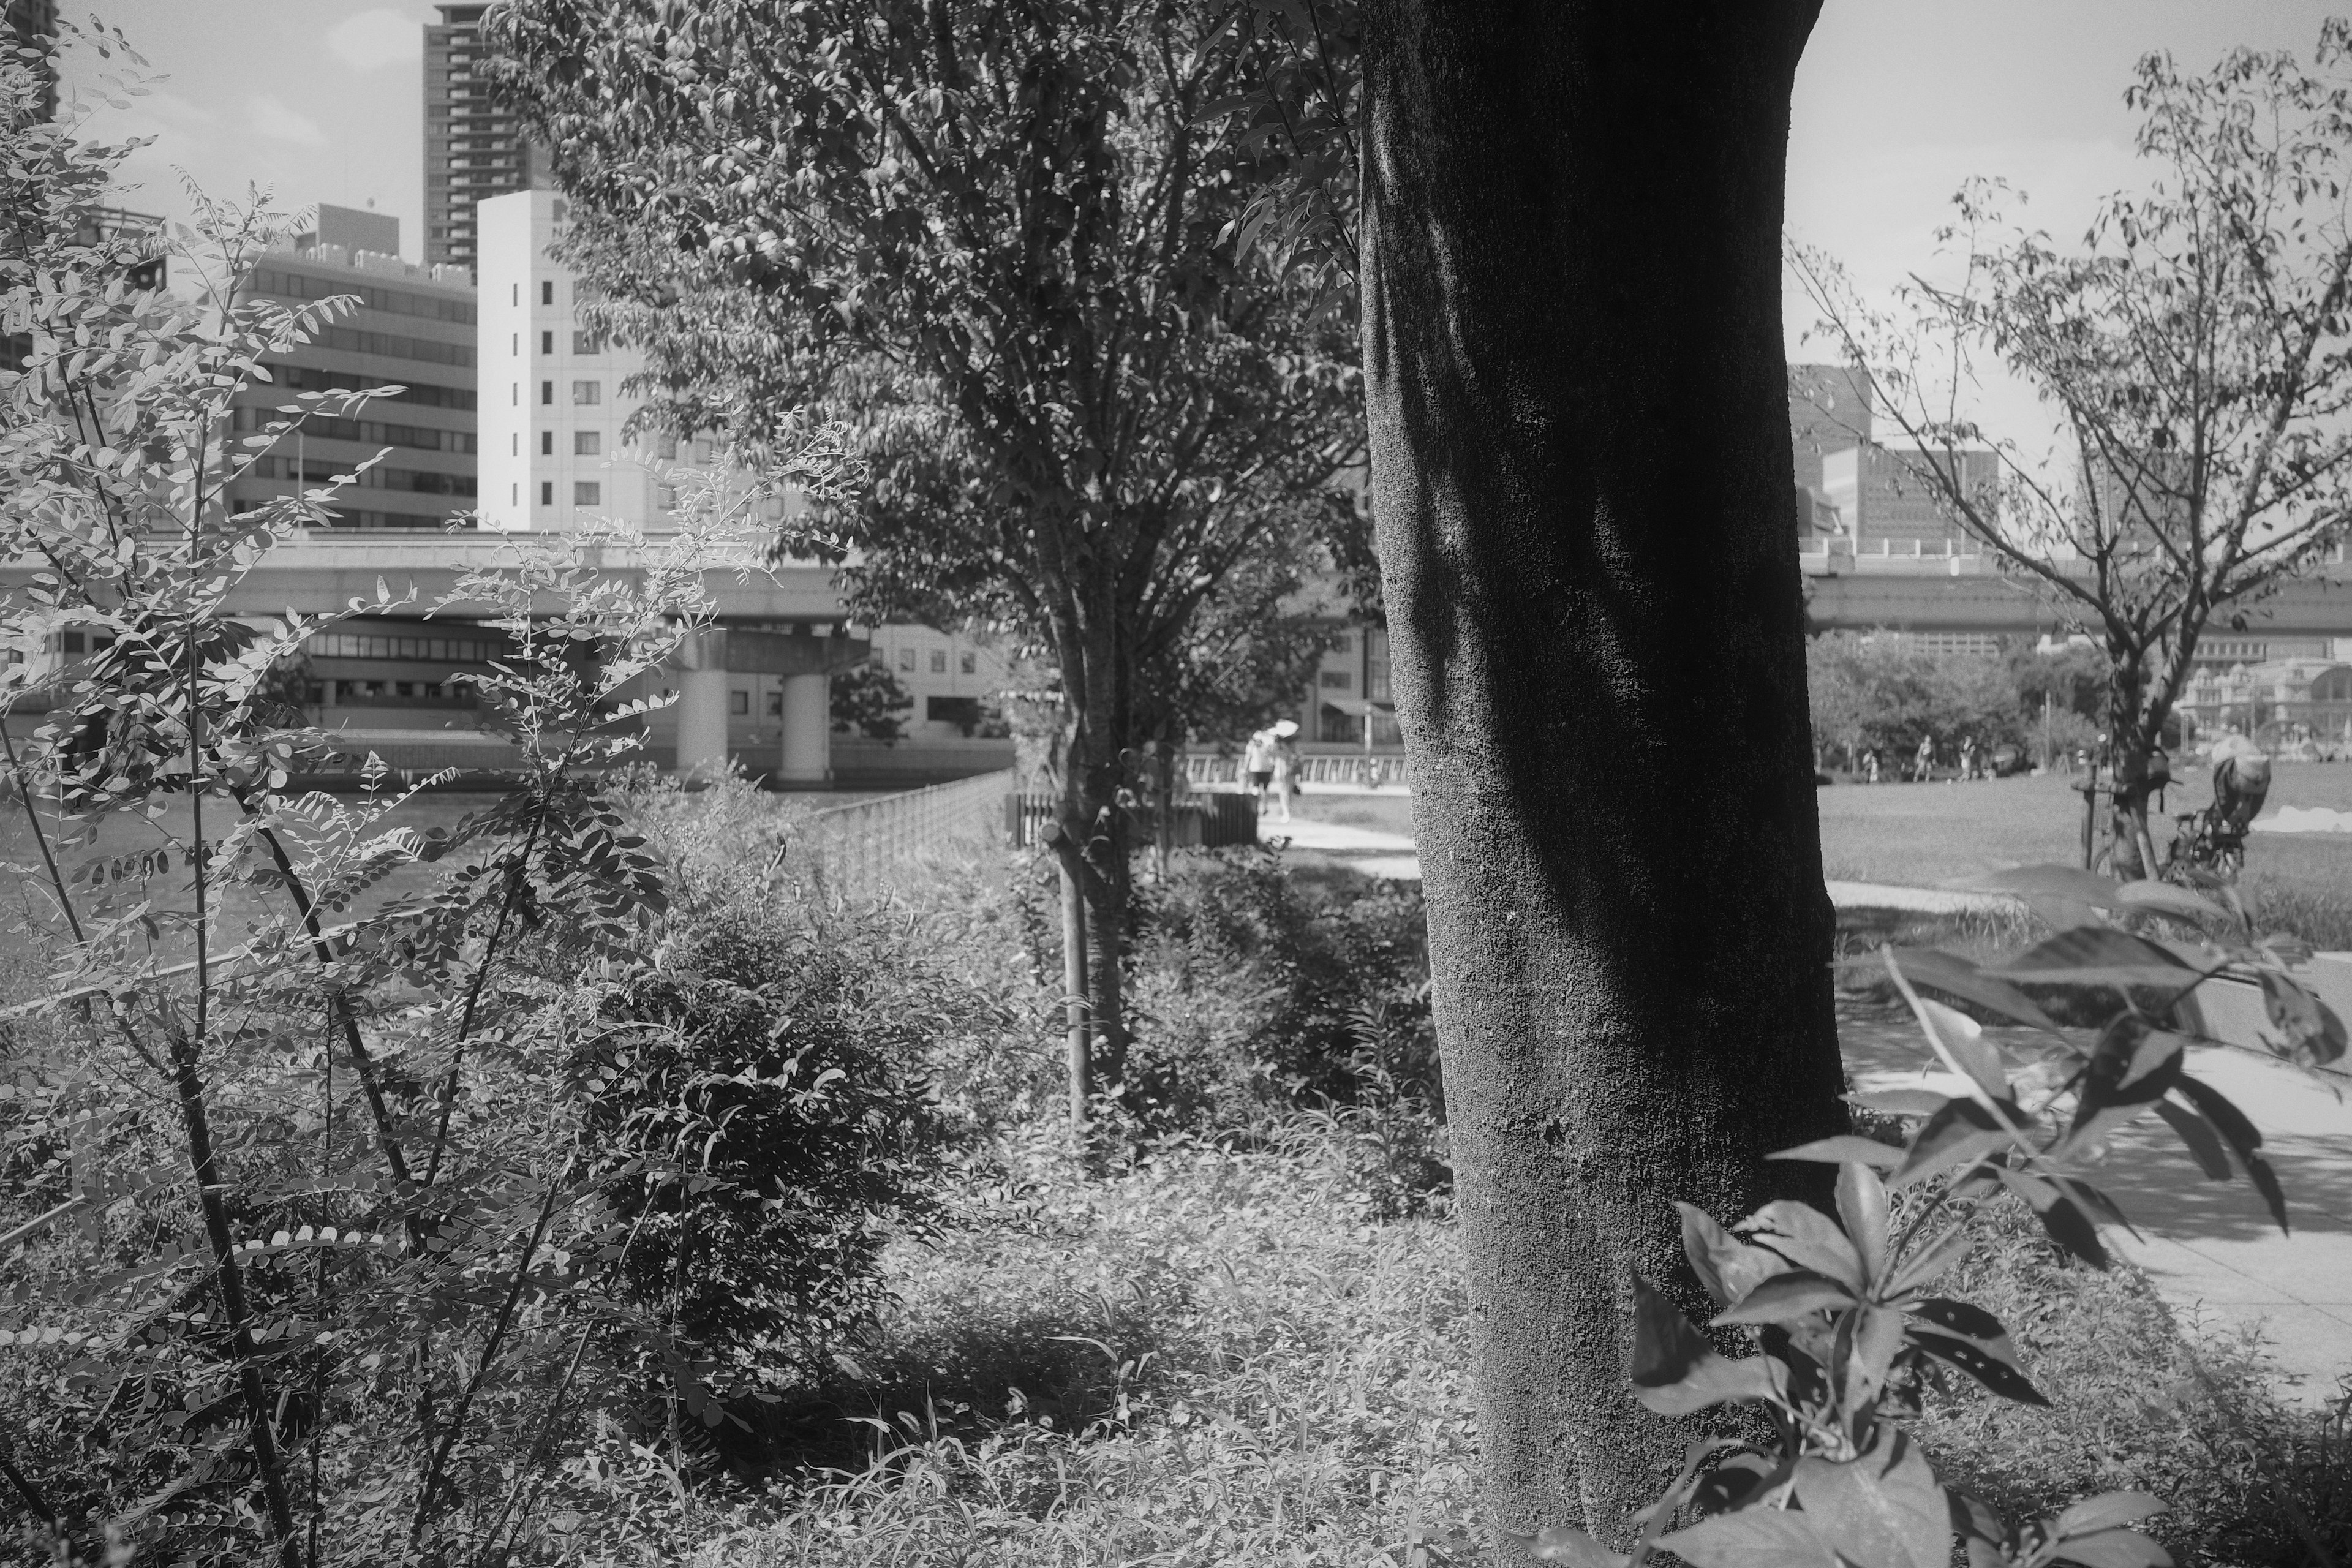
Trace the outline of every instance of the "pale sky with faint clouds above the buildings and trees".
[[[80, 14], [89, 0], [66, 0]], [[174, 167], [214, 195], [376, 205], [423, 254], [423, 0], [96, 0], [167, 80], [96, 106], [106, 139], [155, 136], [125, 205], [183, 214]], [[2333, 9], [2352, 9], [2336, 0]], [[2077, 237], [2100, 195], [2140, 186], [2124, 87], [2150, 49], [2204, 68], [2234, 45], [2310, 56], [2326, 0], [1828, 0], [1790, 129], [1788, 230], [1865, 289], [1936, 268], [1936, 226], [1971, 174], [2025, 190], [2020, 216]], [[68, 85], [106, 68], [75, 59]], [[1785, 308], [1792, 360], [1811, 308]], [[1994, 402], [2013, 397], [1992, 388]], [[1992, 423], [2002, 423], [1994, 418]]]

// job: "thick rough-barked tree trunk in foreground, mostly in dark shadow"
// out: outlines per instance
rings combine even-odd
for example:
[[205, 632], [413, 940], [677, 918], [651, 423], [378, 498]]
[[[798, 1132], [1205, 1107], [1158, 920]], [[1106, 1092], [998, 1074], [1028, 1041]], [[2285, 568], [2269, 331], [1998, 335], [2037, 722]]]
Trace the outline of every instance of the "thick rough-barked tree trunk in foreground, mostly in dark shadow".
[[1818, 0], [1376, 0], [1364, 371], [1489, 1523], [1625, 1535], [1672, 1199], [1844, 1126], [1780, 353]]

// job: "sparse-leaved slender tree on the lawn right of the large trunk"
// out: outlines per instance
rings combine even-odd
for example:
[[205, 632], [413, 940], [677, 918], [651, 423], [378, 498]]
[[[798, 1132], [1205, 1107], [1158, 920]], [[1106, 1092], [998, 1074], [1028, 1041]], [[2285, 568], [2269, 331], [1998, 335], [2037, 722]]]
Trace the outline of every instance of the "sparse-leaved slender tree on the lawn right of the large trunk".
[[[2317, 564], [2352, 508], [2352, 56], [2314, 71], [2234, 49], [2204, 75], [2140, 61], [2145, 193], [2110, 195], [2079, 249], [1957, 202], [1957, 282], [1872, 308], [1816, 249], [1792, 261], [1823, 331], [1863, 364], [1900, 484], [1936, 498], [2110, 663], [2114, 872], [2154, 872], [2147, 797], [2206, 630], [2244, 628]], [[2058, 440], [1992, 435], [1976, 364], [2030, 386]], [[1997, 480], [1962, 461], [1990, 451]]]

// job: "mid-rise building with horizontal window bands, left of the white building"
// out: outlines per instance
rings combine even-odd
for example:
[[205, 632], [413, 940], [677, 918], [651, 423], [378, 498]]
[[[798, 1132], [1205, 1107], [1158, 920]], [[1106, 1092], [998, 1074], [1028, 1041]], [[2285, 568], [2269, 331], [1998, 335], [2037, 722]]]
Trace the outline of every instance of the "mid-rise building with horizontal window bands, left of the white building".
[[[374, 240], [386, 249], [353, 249]], [[308, 242], [308, 244], [303, 244]], [[440, 529], [477, 503], [475, 440], [475, 289], [454, 266], [402, 261], [397, 219], [320, 207], [318, 223], [285, 249], [261, 256], [240, 299], [289, 306], [353, 294], [360, 306], [308, 343], [266, 362], [270, 381], [235, 402], [240, 435], [263, 430], [294, 393], [397, 386], [358, 418], [310, 418], [280, 437], [228, 487], [233, 512], [275, 496], [315, 489], [390, 447], [336, 501], [348, 529]]]

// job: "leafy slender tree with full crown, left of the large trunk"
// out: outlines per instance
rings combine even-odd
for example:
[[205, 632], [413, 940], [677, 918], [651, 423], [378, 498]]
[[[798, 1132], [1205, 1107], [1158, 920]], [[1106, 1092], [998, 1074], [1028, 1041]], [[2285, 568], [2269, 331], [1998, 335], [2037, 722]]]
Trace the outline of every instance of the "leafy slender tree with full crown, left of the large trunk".
[[873, 597], [946, 585], [1051, 649], [1117, 1081], [1138, 679], [1362, 449], [1348, 320], [1221, 244], [1258, 153], [1204, 110], [1249, 45], [1174, 0], [520, 0], [489, 26], [677, 418], [757, 423], [776, 386], [858, 407], [880, 482], [830, 543]]

